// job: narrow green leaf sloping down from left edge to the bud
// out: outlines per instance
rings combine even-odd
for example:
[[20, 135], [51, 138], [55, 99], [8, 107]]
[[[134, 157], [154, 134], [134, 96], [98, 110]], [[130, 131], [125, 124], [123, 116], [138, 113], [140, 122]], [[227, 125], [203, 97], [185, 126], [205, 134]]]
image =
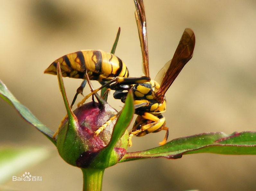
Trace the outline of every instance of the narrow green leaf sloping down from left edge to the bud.
[[48, 129], [41, 123], [24, 105], [22, 105], [13, 94], [7, 89], [5, 84], [0, 80], [0, 96], [10, 105], [12, 105], [17, 112], [19, 112], [24, 120], [35, 126], [40, 132], [42, 132], [47, 138], [56, 145], [56, 141], [52, 138], [54, 132]]

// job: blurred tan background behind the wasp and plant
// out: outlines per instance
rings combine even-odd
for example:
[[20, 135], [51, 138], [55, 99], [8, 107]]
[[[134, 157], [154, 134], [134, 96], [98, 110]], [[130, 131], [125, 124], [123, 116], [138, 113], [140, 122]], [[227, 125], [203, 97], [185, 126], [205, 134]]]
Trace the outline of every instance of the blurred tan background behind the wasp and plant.
[[[169, 140], [202, 132], [255, 130], [255, 1], [144, 1], [153, 79], [172, 58], [183, 30], [190, 27], [196, 36], [193, 58], [166, 94]], [[132, 0], [2, 1], [0, 79], [22, 104], [56, 130], [66, 113], [57, 77], [43, 71], [53, 60], [77, 50], [110, 52], [120, 26], [116, 55], [127, 64], [130, 76], [140, 76], [142, 58], [134, 11]], [[81, 81], [65, 79], [70, 101]], [[109, 102], [120, 110], [119, 100]], [[26, 170], [42, 176], [42, 182], [17, 183], [10, 178], [5, 186], [81, 190], [80, 169], [65, 163], [48, 139], [3, 100], [0, 108], [1, 145], [45, 145], [53, 151], [49, 160]], [[164, 133], [135, 137], [128, 151], [158, 146]], [[255, 159], [191, 154], [177, 160], [121, 163], [105, 170], [103, 190], [256, 190]]]

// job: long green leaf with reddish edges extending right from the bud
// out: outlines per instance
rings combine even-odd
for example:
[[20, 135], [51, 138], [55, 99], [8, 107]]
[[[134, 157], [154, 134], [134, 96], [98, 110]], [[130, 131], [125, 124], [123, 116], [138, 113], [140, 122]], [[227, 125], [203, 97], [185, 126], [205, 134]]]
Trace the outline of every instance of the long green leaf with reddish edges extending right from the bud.
[[120, 162], [156, 157], [177, 159], [183, 154], [195, 153], [256, 154], [256, 132], [234, 132], [231, 135], [216, 132], [181, 137], [153, 149], [127, 153]]

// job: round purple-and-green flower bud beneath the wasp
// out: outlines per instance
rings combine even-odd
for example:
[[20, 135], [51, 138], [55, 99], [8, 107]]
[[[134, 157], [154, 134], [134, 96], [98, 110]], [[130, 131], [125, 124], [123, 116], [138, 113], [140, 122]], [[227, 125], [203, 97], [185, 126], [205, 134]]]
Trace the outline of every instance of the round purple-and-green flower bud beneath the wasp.
[[[78, 124], [63, 120], [57, 136], [57, 149], [60, 156], [69, 164], [80, 168], [87, 168], [102, 148], [109, 144], [113, 127], [117, 118], [109, 121], [117, 114], [109, 104], [90, 102], [75, 109], [74, 114]], [[105, 129], [95, 133], [107, 121]], [[126, 132], [115, 147], [115, 154], [111, 159], [118, 162], [126, 153], [128, 133]], [[96, 164], [97, 166], [97, 164]]]

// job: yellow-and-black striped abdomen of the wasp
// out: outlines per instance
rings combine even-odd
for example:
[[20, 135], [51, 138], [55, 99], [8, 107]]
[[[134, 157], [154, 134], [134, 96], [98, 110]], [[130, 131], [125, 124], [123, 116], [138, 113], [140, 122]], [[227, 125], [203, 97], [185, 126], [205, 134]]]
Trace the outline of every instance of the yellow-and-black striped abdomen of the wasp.
[[66, 54], [52, 62], [44, 73], [56, 75], [57, 62], [60, 63], [64, 77], [84, 79], [86, 69], [90, 79], [98, 81], [107, 81], [116, 76], [129, 76], [128, 69], [121, 59], [102, 50], [81, 50]]

